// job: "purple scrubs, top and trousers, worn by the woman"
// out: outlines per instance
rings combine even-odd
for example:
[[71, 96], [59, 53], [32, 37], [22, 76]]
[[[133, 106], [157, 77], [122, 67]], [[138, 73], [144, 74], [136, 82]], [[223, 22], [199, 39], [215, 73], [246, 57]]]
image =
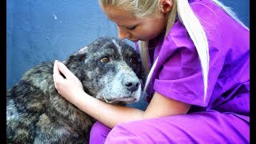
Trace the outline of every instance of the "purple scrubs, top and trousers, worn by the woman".
[[190, 103], [188, 114], [120, 123], [112, 130], [96, 122], [90, 143], [250, 143], [250, 32], [210, 0], [190, 6], [209, 42], [206, 102], [197, 51], [178, 20], [164, 42], [151, 42], [150, 59], [158, 57], [158, 64], [147, 92]]

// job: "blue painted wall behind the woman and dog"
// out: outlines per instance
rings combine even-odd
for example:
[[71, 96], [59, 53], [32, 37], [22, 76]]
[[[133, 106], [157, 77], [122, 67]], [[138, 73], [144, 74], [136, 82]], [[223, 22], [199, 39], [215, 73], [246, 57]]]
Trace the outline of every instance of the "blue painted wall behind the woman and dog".
[[[249, 0], [222, 2], [249, 26]], [[39, 62], [64, 60], [95, 38], [118, 36], [97, 0], [8, 0], [6, 14], [6, 89]]]

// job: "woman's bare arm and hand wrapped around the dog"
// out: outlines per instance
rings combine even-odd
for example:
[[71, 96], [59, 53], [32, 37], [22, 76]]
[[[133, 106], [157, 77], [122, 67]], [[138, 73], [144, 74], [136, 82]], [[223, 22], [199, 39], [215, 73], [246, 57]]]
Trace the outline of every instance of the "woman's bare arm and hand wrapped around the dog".
[[[66, 78], [63, 78], [62, 73]], [[86, 114], [113, 128], [120, 122], [186, 114], [190, 105], [155, 93], [145, 111], [102, 102], [86, 94], [79, 79], [62, 62], [54, 63], [54, 85], [58, 93]]]

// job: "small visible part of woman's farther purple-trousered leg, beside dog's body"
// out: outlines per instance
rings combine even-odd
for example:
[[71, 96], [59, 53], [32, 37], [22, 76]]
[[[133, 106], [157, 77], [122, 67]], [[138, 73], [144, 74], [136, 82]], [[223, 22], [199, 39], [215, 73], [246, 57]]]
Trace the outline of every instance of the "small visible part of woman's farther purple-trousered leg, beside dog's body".
[[110, 130], [109, 127], [103, 125], [101, 122], [95, 122], [90, 130], [90, 144], [103, 144]]

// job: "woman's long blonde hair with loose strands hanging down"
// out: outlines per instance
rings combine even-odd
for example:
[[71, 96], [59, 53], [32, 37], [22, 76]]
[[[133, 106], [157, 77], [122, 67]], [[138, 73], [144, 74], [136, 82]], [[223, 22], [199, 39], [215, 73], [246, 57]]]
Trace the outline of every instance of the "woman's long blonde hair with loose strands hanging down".
[[[159, 0], [99, 0], [99, 2], [102, 4], [102, 6], [121, 6], [123, 10], [126, 10], [128, 13], [133, 14], [137, 18], [156, 14], [160, 10]], [[213, 0], [213, 2], [216, 3], [217, 6], [221, 7], [222, 10], [224, 10], [227, 14], [229, 14], [231, 18], [234, 18], [239, 24], [244, 26], [242, 22], [235, 16], [232, 10], [230, 10], [228, 7], [224, 6], [221, 2], [218, 2], [217, 0]], [[202, 78], [204, 85], [203, 101], [206, 102], [210, 62], [206, 33], [203, 30], [203, 27], [196, 15], [194, 14], [193, 10], [191, 10], [188, 0], [173, 0], [173, 5], [174, 6], [172, 10], [170, 10], [170, 14], [168, 16], [165, 38], [166, 35], [169, 33], [171, 27], [174, 25], [175, 19], [178, 14], [179, 20], [186, 27], [186, 30], [190, 34], [190, 38], [194, 42], [194, 46], [198, 52], [198, 57], [202, 67]], [[246, 29], [248, 30], [247, 27]], [[153, 66], [150, 69], [148, 65], [148, 42], [139, 41], [138, 47], [142, 58], [142, 69], [145, 71], [146, 74], [148, 74], [146, 78], [146, 84], [144, 86], [144, 91], [146, 91], [156, 63], [158, 62], [158, 58], [156, 58]]]

